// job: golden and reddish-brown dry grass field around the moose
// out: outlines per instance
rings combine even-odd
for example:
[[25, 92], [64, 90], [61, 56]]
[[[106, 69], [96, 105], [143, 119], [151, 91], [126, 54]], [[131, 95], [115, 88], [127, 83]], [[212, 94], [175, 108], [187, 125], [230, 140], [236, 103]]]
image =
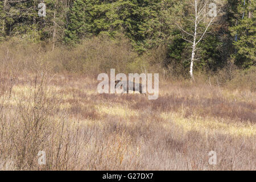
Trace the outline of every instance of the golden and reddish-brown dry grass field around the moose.
[[256, 169], [253, 91], [159, 80], [148, 100], [98, 94], [97, 77], [82, 73], [0, 80], [0, 170]]

